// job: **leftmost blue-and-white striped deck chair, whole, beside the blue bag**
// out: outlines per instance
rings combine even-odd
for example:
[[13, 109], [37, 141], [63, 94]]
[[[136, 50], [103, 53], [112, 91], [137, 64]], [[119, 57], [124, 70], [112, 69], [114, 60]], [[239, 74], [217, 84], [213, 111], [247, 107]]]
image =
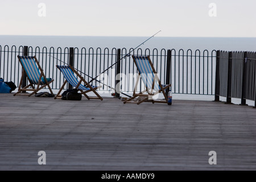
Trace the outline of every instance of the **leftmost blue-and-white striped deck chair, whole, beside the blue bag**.
[[[36, 94], [39, 90], [46, 88], [46, 86], [48, 86], [51, 94], [54, 95], [51, 86], [49, 86], [54, 80], [46, 78], [36, 56], [18, 56], [18, 59], [19, 63], [22, 65], [23, 71], [19, 82], [18, 92], [16, 92], [14, 96], [30, 97], [33, 94]], [[29, 84], [22, 88], [24, 76], [27, 76]], [[31, 91], [32, 93], [27, 93], [27, 91]]]

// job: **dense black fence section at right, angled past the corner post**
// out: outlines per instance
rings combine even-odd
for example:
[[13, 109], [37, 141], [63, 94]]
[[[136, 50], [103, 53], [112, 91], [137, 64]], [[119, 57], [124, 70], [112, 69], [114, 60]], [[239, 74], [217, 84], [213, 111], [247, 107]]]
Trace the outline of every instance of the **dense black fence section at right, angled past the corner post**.
[[241, 98], [241, 105], [255, 101], [255, 73], [256, 52], [217, 51], [215, 100], [226, 97], [230, 104], [232, 98]]

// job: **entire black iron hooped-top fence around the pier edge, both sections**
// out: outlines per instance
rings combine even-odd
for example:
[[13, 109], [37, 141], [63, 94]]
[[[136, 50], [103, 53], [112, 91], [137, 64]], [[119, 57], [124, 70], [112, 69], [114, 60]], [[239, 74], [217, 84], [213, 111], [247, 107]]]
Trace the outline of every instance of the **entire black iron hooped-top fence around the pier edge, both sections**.
[[[131, 55], [150, 55], [161, 82], [171, 83], [173, 93], [215, 95], [216, 101], [221, 96], [228, 103], [231, 98], [241, 98], [241, 104], [255, 101], [256, 97], [255, 52], [0, 46], [0, 77], [16, 85], [22, 73], [18, 55], [36, 56], [46, 76], [55, 79], [53, 89], [59, 89], [64, 82], [56, 64], [71, 64], [86, 81], [96, 78], [101, 83], [94, 80], [92, 84], [104, 83], [100, 91], [113, 92], [111, 88], [115, 88], [123, 93], [133, 92], [137, 68]], [[117, 88], [118, 82], [122, 84]], [[143, 86], [141, 83], [139, 89]]]

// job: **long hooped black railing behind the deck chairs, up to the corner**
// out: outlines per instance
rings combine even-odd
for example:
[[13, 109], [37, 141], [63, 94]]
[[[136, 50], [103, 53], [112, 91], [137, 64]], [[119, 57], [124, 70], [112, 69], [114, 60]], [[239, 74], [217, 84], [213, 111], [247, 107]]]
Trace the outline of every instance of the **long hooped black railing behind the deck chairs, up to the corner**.
[[[46, 76], [55, 79], [51, 84], [52, 89], [59, 89], [64, 81], [63, 76], [56, 69], [56, 64], [72, 64], [86, 81], [97, 78], [112, 88], [116, 87], [115, 77], [117, 70], [120, 69], [123, 84], [118, 89], [121, 92], [133, 92], [137, 68], [131, 55], [149, 55], [161, 82], [163, 84], [170, 82], [173, 93], [214, 95], [216, 51], [0, 46], [0, 77], [5, 81], [13, 81], [18, 86], [22, 68], [18, 63], [17, 55], [36, 56]], [[118, 57], [122, 58], [120, 64], [116, 64]], [[105, 72], [105, 76], [108, 76], [105, 80], [101, 73], [112, 65], [113, 67]], [[100, 83], [93, 81], [92, 84]], [[112, 90], [106, 85], [102, 85], [100, 90]], [[141, 89], [143, 86], [141, 84]]]

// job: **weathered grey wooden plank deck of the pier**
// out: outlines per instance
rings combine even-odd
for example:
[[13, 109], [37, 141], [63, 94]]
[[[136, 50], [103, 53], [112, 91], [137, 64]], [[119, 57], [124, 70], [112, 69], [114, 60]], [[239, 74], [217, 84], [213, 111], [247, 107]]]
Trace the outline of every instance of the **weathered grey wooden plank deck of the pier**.
[[[0, 94], [0, 170], [255, 170], [256, 110]], [[46, 165], [38, 152], [46, 152]], [[209, 152], [217, 164], [210, 165]]]

